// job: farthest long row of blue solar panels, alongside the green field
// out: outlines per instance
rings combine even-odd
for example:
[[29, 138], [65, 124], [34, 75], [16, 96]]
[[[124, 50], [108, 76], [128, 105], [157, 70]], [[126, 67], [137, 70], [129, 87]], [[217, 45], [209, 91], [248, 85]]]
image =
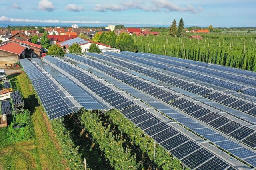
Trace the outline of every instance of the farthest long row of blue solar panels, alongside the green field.
[[210, 68], [206, 68], [206, 67], [202, 67], [202, 66], [195, 66], [193, 64], [188, 64], [185, 62], [177, 62], [174, 61], [172, 59], [170, 59], [170, 57], [167, 58], [160, 58], [160, 57], [156, 57], [156, 56], [151, 56], [151, 55], [142, 55], [142, 54], [138, 54], [138, 53], [131, 53], [128, 51], [123, 51], [121, 52], [123, 54], [127, 54], [127, 55], [133, 55], [136, 57], [143, 57], [145, 59], [150, 59], [153, 61], [159, 61], [161, 63], [165, 63], [165, 64], [170, 64], [170, 65], [166, 65], [168, 68], [168, 66], [180, 66], [183, 68], [188, 68], [189, 70], [195, 70], [198, 72], [202, 72], [202, 73], [206, 73], [208, 75], [214, 76], [214, 77], [220, 77], [220, 78], [225, 78], [227, 80], [231, 80], [233, 82], [240, 82], [242, 84], [246, 84], [246, 85], [252, 85], [252, 86], [256, 86], [256, 80], [254, 78], [250, 78], [250, 77], [245, 77], [245, 76], [241, 76], [238, 74], [230, 74], [230, 73], [226, 73], [223, 71], [217, 71], [214, 69], [210, 69]]

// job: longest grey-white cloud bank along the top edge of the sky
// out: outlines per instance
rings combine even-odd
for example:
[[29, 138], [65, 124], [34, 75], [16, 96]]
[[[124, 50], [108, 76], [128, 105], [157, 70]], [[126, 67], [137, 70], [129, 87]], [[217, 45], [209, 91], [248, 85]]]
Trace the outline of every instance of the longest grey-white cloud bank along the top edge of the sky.
[[[147, 5], [148, 4], [148, 5]], [[172, 4], [167, 0], [150, 0], [150, 3], [145, 3], [141, 0], [137, 1], [127, 1], [123, 2], [122, 4], [96, 4], [94, 10], [99, 12], [107, 12], [110, 11], [124, 11], [130, 9], [139, 9], [144, 11], [153, 11], [153, 12], [160, 12], [164, 10], [165, 12], [172, 12], [172, 11], [180, 11], [180, 12], [190, 12], [190, 13], [197, 13], [198, 11], [202, 11], [202, 7], [199, 10], [196, 10], [194, 6], [187, 5], [186, 7], [180, 7], [177, 5]]]

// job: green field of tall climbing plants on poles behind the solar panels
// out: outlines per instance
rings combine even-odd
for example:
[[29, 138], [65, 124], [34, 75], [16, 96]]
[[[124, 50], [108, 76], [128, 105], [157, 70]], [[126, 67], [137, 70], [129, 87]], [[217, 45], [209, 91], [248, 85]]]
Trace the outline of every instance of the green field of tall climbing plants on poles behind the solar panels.
[[158, 36], [133, 36], [139, 52], [220, 64], [256, 71], [256, 33], [200, 33], [202, 40]]

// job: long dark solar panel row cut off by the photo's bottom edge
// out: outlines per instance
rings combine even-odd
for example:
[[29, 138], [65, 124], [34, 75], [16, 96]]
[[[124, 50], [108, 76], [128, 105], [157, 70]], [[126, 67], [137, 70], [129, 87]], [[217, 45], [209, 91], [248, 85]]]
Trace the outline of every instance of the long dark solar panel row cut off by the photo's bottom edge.
[[[212, 169], [213, 167], [216, 167], [217, 169], [232, 169], [230, 165], [222, 161], [220, 158], [214, 156], [214, 154], [210, 153], [208, 150], [203, 149], [198, 144], [188, 139], [185, 135], [182, 135], [170, 127], [170, 125], [166, 125], [166, 123], [142, 107], [131, 101], [128, 101], [129, 103], [127, 103], [127, 101], [124, 100], [128, 99], [124, 96], [119, 96], [119, 94], [118, 96], [120, 98], [117, 98], [114, 90], [108, 88], [104, 84], [101, 84], [94, 78], [81, 74], [80, 70], [60, 60], [57, 61], [57, 59], [52, 57], [46, 56], [44, 57], [44, 61], [45, 60], [52, 62], [59, 69], [68, 73], [69, 76], [73, 76], [78, 81], [82, 82], [86, 87], [90, 88], [90, 90], [98, 94], [98, 96], [106, 100], [110, 105], [115, 102], [122, 102], [121, 106], [120, 104], [112, 106], [116, 109], [120, 109], [121, 113], [126, 115], [130, 121], [142, 130], [154, 136], [153, 139], [156, 139], [165, 149], [169, 151], [171, 150], [171, 153], [173, 153], [177, 158], [180, 158], [189, 168]], [[102, 85], [104, 86], [104, 89], [102, 89]]]

